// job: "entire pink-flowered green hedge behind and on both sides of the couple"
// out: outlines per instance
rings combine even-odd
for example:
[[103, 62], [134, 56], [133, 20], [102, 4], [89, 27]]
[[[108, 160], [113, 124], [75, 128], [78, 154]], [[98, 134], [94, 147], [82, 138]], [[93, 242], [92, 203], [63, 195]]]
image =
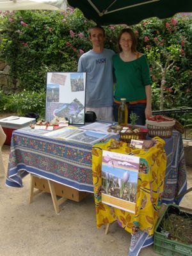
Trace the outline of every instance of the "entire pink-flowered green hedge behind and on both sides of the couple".
[[[0, 57], [10, 64], [13, 88], [17, 90], [45, 92], [47, 71], [76, 71], [81, 54], [92, 49], [88, 28], [95, 23], [86, 20], [79, 10], [0, 15]], [[122, 27], [105, 27], [106, 48], [116, 51]], [[153, 18], [132, 28], [138, 38], [138, 51], [145, 52], [150, 63], [153, 109], [192, 106], [191, 19]]]

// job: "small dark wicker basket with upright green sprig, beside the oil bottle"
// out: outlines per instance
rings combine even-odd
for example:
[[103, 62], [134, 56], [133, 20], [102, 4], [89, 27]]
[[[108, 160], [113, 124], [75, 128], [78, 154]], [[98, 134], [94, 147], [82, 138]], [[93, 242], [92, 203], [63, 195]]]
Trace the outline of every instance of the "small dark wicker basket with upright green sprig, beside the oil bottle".
[[131, 113], [130, 115], [131, 119], [131, 125], [127, 125], [126, 127], [122, 127], [120, 130], [120, 140], [130, 143], [131, 140], [145, 140], [148, 129], [143, 127], [137, 127], [136, 120], [138, 119], [138, 116], [134, 113]]

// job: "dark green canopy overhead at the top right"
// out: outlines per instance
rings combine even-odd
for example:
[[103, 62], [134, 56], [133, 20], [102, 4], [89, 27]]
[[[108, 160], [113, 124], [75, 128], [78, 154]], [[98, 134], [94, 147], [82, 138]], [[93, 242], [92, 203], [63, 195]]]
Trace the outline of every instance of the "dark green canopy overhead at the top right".
[[100, 25], [133, 25], [149, 17], [164, 19], [192, 12], [192, 0], [68, 0], [68, 4]]

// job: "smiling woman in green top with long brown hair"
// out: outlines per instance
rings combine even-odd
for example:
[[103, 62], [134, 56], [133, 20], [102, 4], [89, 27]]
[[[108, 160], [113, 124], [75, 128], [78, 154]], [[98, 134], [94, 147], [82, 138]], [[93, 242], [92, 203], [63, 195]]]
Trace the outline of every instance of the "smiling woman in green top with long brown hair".
[[124, 28], [118, 36], [119, 53], [113, 56], [113, 70], [116, 85], [113, 112], [118, 120], [118, 106], [121, 98], [126, 98], [128, 123], [131, 112], [138, 115], [136, 124], [145, 125], [145, 120], [152, 115], [150, 73], [147, 58], [136, 51], [136, 36], [130, 28]]

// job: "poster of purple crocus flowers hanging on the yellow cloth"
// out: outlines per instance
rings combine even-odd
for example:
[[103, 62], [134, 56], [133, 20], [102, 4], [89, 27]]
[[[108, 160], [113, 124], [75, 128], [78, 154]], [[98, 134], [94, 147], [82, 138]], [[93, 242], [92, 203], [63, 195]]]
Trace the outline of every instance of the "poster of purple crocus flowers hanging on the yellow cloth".
[[140, 157], [102, 150], [102, 203], [135, 212]]

